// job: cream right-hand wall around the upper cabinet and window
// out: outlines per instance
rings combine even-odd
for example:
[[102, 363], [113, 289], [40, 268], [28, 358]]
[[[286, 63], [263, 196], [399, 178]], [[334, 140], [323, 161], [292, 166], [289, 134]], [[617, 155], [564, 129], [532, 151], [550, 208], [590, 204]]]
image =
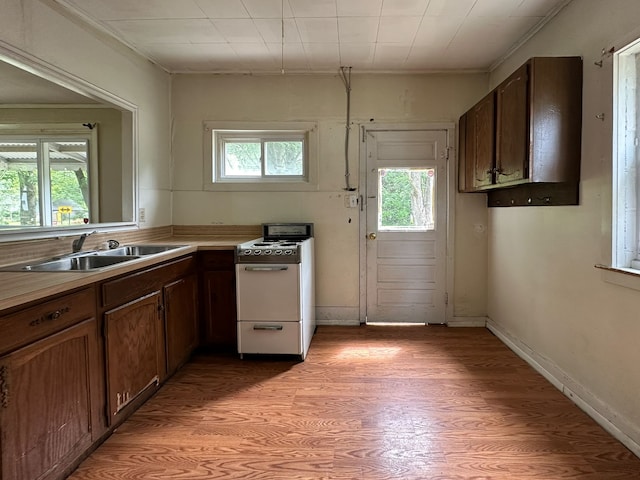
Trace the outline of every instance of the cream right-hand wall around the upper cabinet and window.
[[574, 0], [493, 72], [495, 86], [533, 56], [584, 60], [580, 205], [490, 209], [488, 272], [490, 321], [636, 446], [640, 292], [594, 265], [611, 263], [612, 60], [601, 52], [638, 25], [635, 0]]

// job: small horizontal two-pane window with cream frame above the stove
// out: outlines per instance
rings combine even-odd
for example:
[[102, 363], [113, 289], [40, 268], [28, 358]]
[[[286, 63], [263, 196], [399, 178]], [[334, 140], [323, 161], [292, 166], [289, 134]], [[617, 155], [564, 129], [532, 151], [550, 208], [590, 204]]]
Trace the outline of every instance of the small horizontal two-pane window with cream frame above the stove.
[[315, 183], [315, 132], [314, 124], [297, 122], [205, 123], [205, 189], [308, 189]]

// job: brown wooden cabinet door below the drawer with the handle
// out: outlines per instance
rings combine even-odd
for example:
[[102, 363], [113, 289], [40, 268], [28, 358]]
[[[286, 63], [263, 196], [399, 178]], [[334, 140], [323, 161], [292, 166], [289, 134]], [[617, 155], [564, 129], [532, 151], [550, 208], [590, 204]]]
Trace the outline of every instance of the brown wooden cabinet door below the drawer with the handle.
[[0, 358], [3, 480], [59, 476], [89, 448], [96, 357], [90, 319]]

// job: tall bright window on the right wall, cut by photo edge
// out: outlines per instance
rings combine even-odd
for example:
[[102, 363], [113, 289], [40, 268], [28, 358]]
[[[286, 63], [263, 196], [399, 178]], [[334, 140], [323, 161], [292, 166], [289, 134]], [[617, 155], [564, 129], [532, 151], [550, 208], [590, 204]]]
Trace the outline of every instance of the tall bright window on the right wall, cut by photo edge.
[[640, 270], [640, 39], [614, 55], [613, 266]]

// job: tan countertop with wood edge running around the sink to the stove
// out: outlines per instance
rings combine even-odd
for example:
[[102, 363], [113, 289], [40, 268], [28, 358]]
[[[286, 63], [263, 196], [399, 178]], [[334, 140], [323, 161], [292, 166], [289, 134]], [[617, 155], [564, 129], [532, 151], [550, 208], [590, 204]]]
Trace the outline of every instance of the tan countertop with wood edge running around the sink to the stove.
[[255, 237], [171, 237], [142, 244], [184, 245], [150, 257], [131, 260], [93, 272], [0, 272], [0, 311], [82, 288], [111, 277], [151, 267], [202, 250], [233, 250]]

